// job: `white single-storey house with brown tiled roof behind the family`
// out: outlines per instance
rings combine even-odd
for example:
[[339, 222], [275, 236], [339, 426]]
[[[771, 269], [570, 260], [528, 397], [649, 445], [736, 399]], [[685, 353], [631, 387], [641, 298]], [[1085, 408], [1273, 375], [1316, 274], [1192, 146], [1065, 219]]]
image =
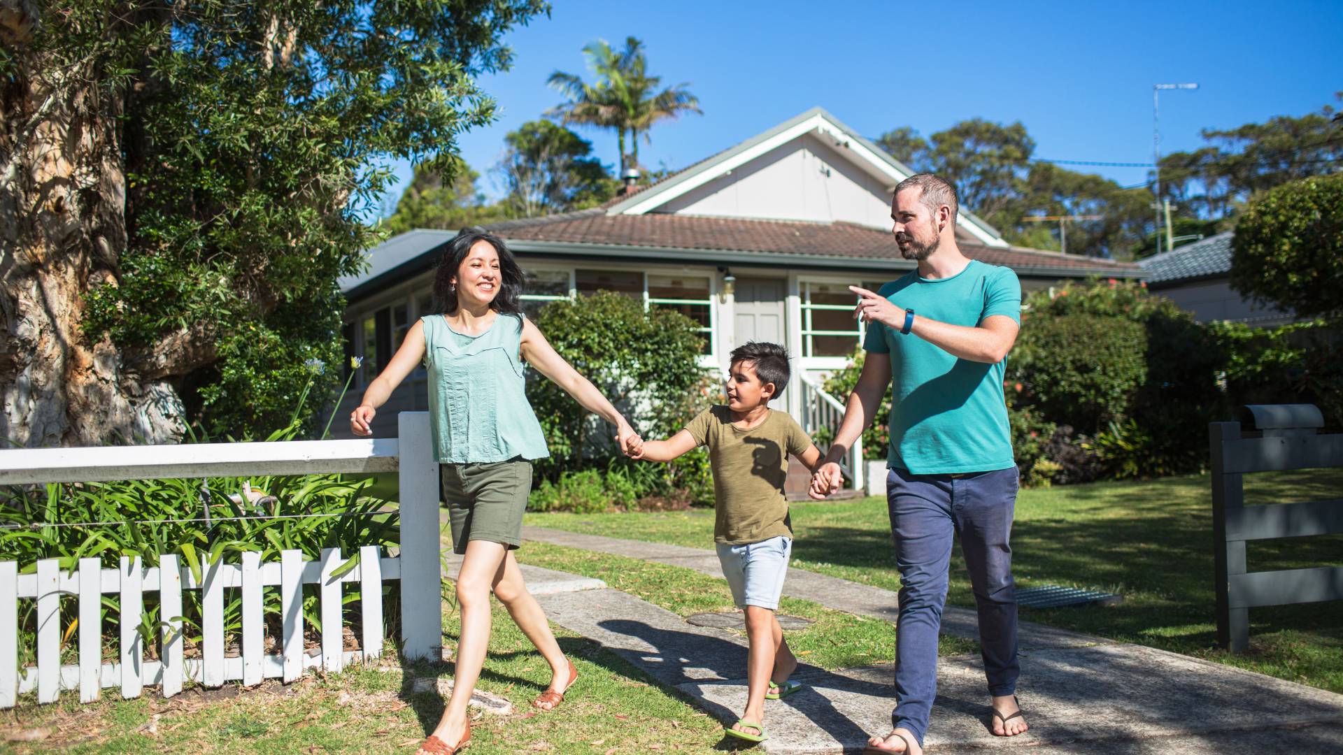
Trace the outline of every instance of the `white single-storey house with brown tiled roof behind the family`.
[[[784, 408], [802, 420], [807, 392], [862, 337], [846, 286], [876, 289], [913, 267], [890, 234], [892, 192], [912, 173], [815, 107], [602, 207], [490, 230], [526, 270], [529, 308], [599, 289], [676, 308], [701, 324], [704, 364], [724, 369], [737, 344], [786, 344], [803, 379]], [[367, 273], [341, 281], [346, 348], [364, 357], [341, 410], [428, 310], [432, 267], [453, 235], [402, 234], [369, 251]], [[1013, 267], [1026, 290], [1143, 275], [1131, 263], [1010, 246], [964, 207], [956, 238], [967, 255]], [[398, 390], [375, 434], [395, 434], [398, 410], [424, 408], [423, 383], [419, 375]]]

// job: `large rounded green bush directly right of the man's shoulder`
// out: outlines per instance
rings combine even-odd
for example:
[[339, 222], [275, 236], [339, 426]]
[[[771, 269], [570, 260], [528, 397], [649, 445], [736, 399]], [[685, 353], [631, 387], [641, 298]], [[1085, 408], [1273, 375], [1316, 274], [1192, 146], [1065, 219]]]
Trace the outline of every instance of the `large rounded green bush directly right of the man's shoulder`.
[[1022, 386], [1014, 406], [1082, 435], [1054, 438], [1052, 449], [1080, 443], [1101, 473], [1121, 477], [1205, 463], [1207, 422], [1226, 411], [1215, 383], [1225, 351], [1205, 328], [1171, 301], [1116, 281], [1037, 292], [1026, 305], [1007, 360], [1009, 383]]

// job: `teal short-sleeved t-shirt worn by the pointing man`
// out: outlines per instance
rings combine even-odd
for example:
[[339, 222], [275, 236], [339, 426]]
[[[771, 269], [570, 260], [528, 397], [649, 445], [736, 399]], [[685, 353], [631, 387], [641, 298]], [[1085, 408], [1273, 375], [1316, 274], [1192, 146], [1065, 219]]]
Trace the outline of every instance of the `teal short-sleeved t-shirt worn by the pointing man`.
[[[979, 261], [951, 278], [920, 278], [913, 270], [878, 293], [917, 317], [951, 325], [974, 328], [994, 314], [1021, 324], [1017, 274]], [[1015, 463], [1003, 398], [1006, 360], [958, 359], [881, 322], [868, 326], [862, 348], [890, 359], [890, 466], [912, 474], [956, 474]]]

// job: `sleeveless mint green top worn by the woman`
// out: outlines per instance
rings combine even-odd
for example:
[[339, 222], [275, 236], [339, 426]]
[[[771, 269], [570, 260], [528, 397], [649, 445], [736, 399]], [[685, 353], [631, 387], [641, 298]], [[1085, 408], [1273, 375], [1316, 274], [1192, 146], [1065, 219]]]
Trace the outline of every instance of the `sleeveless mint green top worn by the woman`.
[[522, 318], [497, 314], [463, 336], [442, 314], [422, 317], [428, 363], [428, 418], [439, 463], [489, 463], [551, 455], [526, 400], [518, 347]]

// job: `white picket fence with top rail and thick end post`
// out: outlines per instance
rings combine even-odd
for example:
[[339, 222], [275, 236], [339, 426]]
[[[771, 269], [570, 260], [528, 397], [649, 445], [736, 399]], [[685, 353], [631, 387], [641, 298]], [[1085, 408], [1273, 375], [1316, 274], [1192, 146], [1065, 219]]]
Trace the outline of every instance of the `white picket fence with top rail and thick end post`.
[[[187, 680], [220, 686], [263, 678], [291, 681], [304, 669], [340, 670], [380, 654], [384, 639], [384, 580], [402, 582], [402, 653], [406, 658], [436, 658], [442, 646], [439, 592], [438, 465], [430, 442], [428, 415], [402, 412], [399, 438], [368, 441], [301, 441], [278, 443], [200, 443], [184, 446], [118, 446], [99, 449], [24, 449], [0, 451], [0, 485], [94, 482], [168, 477], [232, 477], [262, 474], [398, 472], [400, 478], [400, 548], [384, 555], [376, 545], [360, 547], [351, 571], [333, 576], [346, 563], [340, 549], [322, 549], [321, 560], [305, 562], [301, 551], [283, 551], [278, 562], [261, 562], [244, 552], [239, 563], [201, 559], [200, 580], [177, 556], [160, 556], [145, 568], [140, 558], [121, 558], [120, 568], [102, 568], [99, 559], [81, 559], [62, 571], [55, 559], [36, 571], [17, 562], [0, 562], [0, 708], [36, 689], [39, 703], [54, 703], [62, 689], [78, 689], [81, 701], [97, 700], [103, 688], [121, 688], [138, 697], [144, 686], [161, 685], [169, 697]], [[344, 652], [342, 587], [361, 587], [361, 652]], [[321, 610], [321, 652], [304, 652], [304, 584], [317, 584]], [[282, 637], [279, 653], [266, 653], [263, 590], [279, 588]], [[242, 598], [240, 653], [226, 657], [224, 590]], [[184, 658], [183, 590], [201, 591], [200, 658]], [[145, 592], [158, 592], [163, 652], [144, 657], [137, 631]], [[120, 662], [102, 662], [102, 595], [120, 598], [124, 617], [118, 638]], [[79, 662], [62, 665], [60, 598], [78, 599]], [[36, 599], [36, 666], [19, 668], [19, 601]], [[177, 621], [173, 621], [177, 619]]]

